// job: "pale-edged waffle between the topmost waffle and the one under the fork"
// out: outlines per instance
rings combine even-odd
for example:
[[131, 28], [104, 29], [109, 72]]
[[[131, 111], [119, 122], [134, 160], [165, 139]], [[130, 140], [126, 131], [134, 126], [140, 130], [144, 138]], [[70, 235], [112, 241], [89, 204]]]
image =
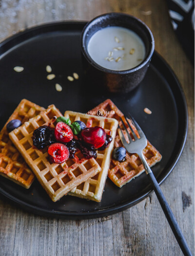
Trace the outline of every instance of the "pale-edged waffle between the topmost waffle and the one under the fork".
[[113, 118], [92, 117], [87, 114], [78, 115], [78, 113], [72, 111], [66, 111], [64, 116], [69, 117], [71, 122], [80, 120], [84, 122], [87, 127], [100, 126], [105, 129], [107, 134], [110, 134], [113, 137], [113, 141], [109, 144], [109, 147], [103, 151], [98, 150], [97, 152], [98, 157], [96, 161], [99, 166], [101, 166], [101, 171], [96, 176], [88, 179], [69, 192], [70, 195], [100, 202], [108, 175], [118, 122]]

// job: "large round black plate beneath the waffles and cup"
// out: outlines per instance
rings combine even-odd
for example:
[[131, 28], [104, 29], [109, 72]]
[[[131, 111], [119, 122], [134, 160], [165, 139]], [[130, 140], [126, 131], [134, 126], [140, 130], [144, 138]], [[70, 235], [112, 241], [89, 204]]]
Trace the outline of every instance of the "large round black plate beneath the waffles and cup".
[[[162, 160], [153, 172], [161, 183], [172, 171], [187, 135], [188, 113], [181, 85], [166, 62], [155, 52], [144, 81], [129, 94], [111, 94], [89, 86], [83, 78], [80, 34], [84, 22], [46, 24], [21, 32], [0, 44], [0, 128], [20, 100], [26, 98], [40, 106], [55, 104], [65, 110], [87, 112], [107, 98], [124, 113], [137, 120], [148, 140], [160, 151]], [[54, 80], [48, 81], [46, 65], [52, 66]], [[15, 66], [23, 66], [17, 73]], [[69, 82], [68, 75], [79, 74]], [[55, 84], [62, 85], [61, 92]], [[147, 115], [143, 109], [152, 110]], [[35, 181], [29, 190], [0, 176], [0, 193], [20, 208], [32, 213], [65, 218], [91, 218], [117, 213], [135, 205], [151, 192], [145, 173], [119, 189], [109, 178], [100, 203], [72, 196], [58, 202], [50, 200]]]

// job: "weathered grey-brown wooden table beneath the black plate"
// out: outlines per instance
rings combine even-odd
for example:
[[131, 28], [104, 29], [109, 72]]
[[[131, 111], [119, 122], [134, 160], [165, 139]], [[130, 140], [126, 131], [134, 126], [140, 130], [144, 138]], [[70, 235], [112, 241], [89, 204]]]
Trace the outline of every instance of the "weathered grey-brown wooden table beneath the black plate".
[[[173, 32], [165, 0], [0, 0], [0, 40], [44, 22], [90, 20], [126, 12], [152, 30], [156, 51], [171, 65], [187, 98], [189, 130], [183, 153], [161, 185], [194, 253], [194, 68]], [[192, 203], [182, 202], [182, 194]], [[0, 201], [0, 255], [182, 255], [153, 193], [136, 206], [91, 220], [59, 220]]]

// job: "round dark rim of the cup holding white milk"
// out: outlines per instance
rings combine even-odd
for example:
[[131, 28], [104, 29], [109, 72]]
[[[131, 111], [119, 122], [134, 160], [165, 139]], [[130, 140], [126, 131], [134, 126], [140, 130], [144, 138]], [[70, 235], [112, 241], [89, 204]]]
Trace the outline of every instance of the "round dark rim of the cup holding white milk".
[[[143, 27], [145, 27], [145, 29], [149, 32], [149, 35], [151, 37], [151, 49], [147, 55], [147, 58], [145, 58], [140, 64], [138, 64], [137, 66], [133, 67], [133, 68], [130, 68], [130, 69], [125, 69], [125, 70], [112, 70], [112, 69], [109, 69], [109, 68], [106, 68], [106, 67], [102, 67], [101, 65], [99, 65], [98, 63], [96, 63], [92, 58], [91, 56], [89, 55], [86, 47], [85, 47], [85, 36], [86, 36], [86, 30], [87, 28], [90, 27], [90, 25], [98, 20], [99, 18], [101, 17], [104, 17], [104, 16], [108, 16], [108, 15], [118, 15], [118, 16], [126, 16], [126, 17], [130, 17], [134, 20], [136, 20], [138, 23], [141, 23], [141, 25]], [[83, 28], [83, 31], [82, 31], [82, 34], [81, 34], [81, 49], [82, 49], [82, 53], [83, 55], [85, 56], [85, 58], [88, 60], [88, 62], [93, 65], [95, 68], [97, 68], [98, 70], [100, 71], [103, 71], [103, 72], [106, 72], [106, 73], [110, 73], [110, 74], [129, 74], [129, 73], [133, 73], [139, 69], [141, 69], [142, 67], [144, 67], [151, 59], [153, 53], [154, 53], [154, 50], [155, 50], [155, 40], [154, 40], [154, 36], [150, 30], [150, 28], [143, 22], [141, 21], [140, 19], [136, 18], [135, 16], [133, 15], [129, 15], [129, 14], [126, 14], [126, 13], [120, 13], [120, 12], [109, 12], [109, 13], [104, 13], [104, 14], [101, 14], [97, 17], [95, 17], [93, 20], [89, 21]]]

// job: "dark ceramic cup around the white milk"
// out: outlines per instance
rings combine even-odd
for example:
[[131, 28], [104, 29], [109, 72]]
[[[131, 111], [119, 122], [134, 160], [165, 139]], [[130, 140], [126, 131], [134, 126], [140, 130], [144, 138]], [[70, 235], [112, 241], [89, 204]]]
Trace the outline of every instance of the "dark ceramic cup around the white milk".
[[[133, 30], [145, 45], [145, 58], [136, 67], [116, 71], [98, 65], [89, 55], [87, 46], [90, 38], [100, 29], [108, 26], [120, 26]], [[123, 13], [107, 13], [88, 22], [81, 35], [83, 65], [86, 77], [93, 85], [107, 86], [111, 92], [129, 92], [144, 78], [154, 53], [155, 41], [152, 32], [139, 19]]]

